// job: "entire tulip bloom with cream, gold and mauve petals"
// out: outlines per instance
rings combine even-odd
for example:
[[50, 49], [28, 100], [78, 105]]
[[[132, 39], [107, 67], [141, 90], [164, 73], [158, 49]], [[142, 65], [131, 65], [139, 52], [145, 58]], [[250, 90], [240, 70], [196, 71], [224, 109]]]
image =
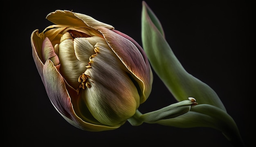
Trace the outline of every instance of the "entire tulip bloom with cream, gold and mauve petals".
[[83, 130], [117, 129], [148, 98], [153, 74], [128, 35], [88, 15], [57, 10], [31, 34], [32, 55], [56, 110]]

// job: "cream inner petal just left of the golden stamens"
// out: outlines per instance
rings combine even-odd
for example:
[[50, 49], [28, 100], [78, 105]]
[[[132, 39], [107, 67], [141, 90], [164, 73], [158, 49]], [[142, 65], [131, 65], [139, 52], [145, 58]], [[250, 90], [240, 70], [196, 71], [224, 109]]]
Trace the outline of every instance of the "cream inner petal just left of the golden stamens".
[[79, 87], [79, 76], [86, 70], [88, 63], [81, 62], [76, 58], [73, 41], [66, 39], [59, 44], [58, 57], [60, 59], [60, 71], [67, 83], [76, 89]]

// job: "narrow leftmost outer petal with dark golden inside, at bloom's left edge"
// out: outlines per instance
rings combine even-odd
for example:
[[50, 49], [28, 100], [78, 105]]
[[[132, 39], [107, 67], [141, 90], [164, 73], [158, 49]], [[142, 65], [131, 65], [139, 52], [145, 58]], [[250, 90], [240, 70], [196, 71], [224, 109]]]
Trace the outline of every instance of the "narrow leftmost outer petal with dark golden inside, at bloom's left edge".
[[[32, 55], [33, 55], [33, 59], [35, 61], [38, 73], [40, 77], [43, 78], [43, 62], [40, 60], [40, 57], [42, 59], [41, 51], [40, 51], [41, 45], [42, 45], [42, 39], [38, 35], [38, 30], [35, 30], [31, 34]], [[39, 51], [39, 55], [38, 55], [38, 51]]]

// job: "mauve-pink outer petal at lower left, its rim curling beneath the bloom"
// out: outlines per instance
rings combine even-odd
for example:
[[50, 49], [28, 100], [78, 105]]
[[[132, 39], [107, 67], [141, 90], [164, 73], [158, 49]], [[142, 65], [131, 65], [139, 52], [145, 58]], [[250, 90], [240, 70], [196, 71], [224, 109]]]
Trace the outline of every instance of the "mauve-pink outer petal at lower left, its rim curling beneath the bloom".
[[[95, 125], [85, 122], [79, 118], [74, 112], [71, 99], [77, 99], [78, 95], [74, 90], [68, 90], [65, 85], [63, 77], [58, 72], [51, 60], [47, 60], [43, 66], [43, 81], [49, 99], [56, 108], [56, 110], [65, 118], [70, 124], [80, 129], [92, 132], [105, 131], [117, 129], [121, 125], [109, 127], [103, 125]], [[75, 100], [74, 100], [75, 101]]]

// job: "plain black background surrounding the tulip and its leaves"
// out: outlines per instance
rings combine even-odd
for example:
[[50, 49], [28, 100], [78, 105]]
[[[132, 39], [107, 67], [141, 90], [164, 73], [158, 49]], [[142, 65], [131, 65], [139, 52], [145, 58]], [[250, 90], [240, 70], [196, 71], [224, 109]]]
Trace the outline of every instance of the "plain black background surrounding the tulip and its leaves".
[[[184, 68], [207, 83], [234, 118], [246, 145], [254, 146], [254, 52], [252, 3], [214, 0], [146, 0], [162, 23], [166, 40]], [[231, 147], [212, 128], [181, 129], [126, 122], [116, 130], [86, 132], [67, 123], [52, 106], [31, 53], [30, 35], [52, 23], [57, 9], [92, 16], [141, 44], [141, 0], [7, 2], [2, 11], [2, 128], [6, 147]], [[3, 33], [4, 32], [4, 33]], [[141, 44], [142, 45], [142, 44]], [[142, 113], [175, 103], [154, 74]]]

